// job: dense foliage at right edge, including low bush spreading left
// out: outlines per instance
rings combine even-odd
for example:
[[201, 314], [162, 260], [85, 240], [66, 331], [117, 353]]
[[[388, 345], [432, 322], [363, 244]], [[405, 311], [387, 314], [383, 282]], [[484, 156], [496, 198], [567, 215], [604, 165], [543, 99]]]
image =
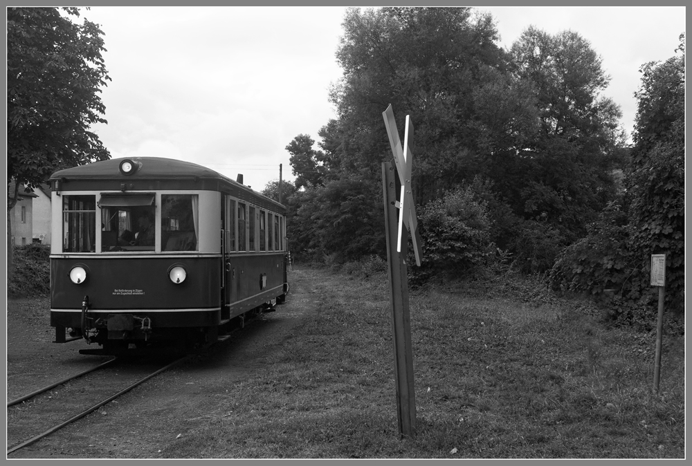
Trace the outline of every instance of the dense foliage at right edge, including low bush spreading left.
[[651, 254], [666, 254], [668, 308], [684, 309], [684, 36], [679, 50], [680, 57], [641, 68], [627, 211], [605, 209], [551, 272], [556, 289], [598, 295], [614, 288], [614, 317], [646, 321], [640, 310], [655, 306]]

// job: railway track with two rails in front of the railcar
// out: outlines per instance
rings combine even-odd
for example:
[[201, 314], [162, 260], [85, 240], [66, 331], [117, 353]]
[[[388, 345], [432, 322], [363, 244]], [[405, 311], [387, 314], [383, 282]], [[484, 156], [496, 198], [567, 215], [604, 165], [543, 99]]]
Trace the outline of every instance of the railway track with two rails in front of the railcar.
[[[53, 425], [51, 425], [50, 427], [48, 427], [47, 429], [45, 426], [40, 427], [39, 428], [40, 432], [38, 434], [31, 434], [32, 436], [30, 438], [28, 438], [28, 440], [21, 440], [19, 443], [15, 443], [14, 446], [8, 448], [7, 454], [8, 455], [12, 454], [12, 452], [14, 452], [14, 451], [17, 451], [19, 449], [27, 447], [28, 445], [31, 445], [34, 442], [37, 442], [37, 440], [41, 440], [42, 438], [45, 438], [45, 437], [53, 434], [55, 431], [62, 429], [62, 427], [65, 427], [66, 425], [69, 425], [72, 422], [75, 422], [76, 420], [84, 418], [84, 416], [88, 415], [89, 413], [93, 413], [93, 411], [96, 411], [97, 409], [104, 406], [105, 404], [115, 400], [120, 395], [124, 395], [125, 393], [127, 393], [131, 389], [134, 389], [136, 386], [139, 386], [140, 384], [143, 384], [144, 382], [155, 377], [156, 375], [158, 375], [164, 371], [167, 371], [168, 369], [171, 369], [172, 367], [174, 367], [178, 364], [181, 364], [182, 362], [190, 359], [190, 357], [192, 357], [192, 355], [185, 355], [183, 357], [179, 357], [178, 359], [176, 359], [172, 362], [168, 362], [168, 364], [165, 364], [165, 366], [160, 367], [159, 369], [157, 369], [154, 372], [152, 372], [150, 370], [146, 371], [146, 375], [144, 375], [144, 376], [142, 376], [141, 374], [138, 374], [138, 375], [129, 374], [130, 375], [130, 377], [129, 377], [130, 381], [132, 379], [134, 379], [134, 382], [129, 383], [127, 386], [125, 386], [125, 388], [116, 389], [117, 390], [116, 393], [112, 393], [112, 391], [111, 391], [112, 394], [107, 395], [104, 398], [101, 398], [100, 400], [98, 400], [95, 403], [92, 400], [91, 403], [93, 403], [93, 404], [91, 404], [90, 407], [88, 407], [86, 409], [82, 409], [82, 411], [80, 411], [78, 414], [76, 414], [75, 416], [72, 416], [71, 418], [69, 418], [67, 420], [62, 420], [60, 422], [56, 422]], [[95, 367], [87, 370], [87, 371], [83, 371], [81, 373], [72, 375], [69, 378], [66, 378], [64, 380], [60, 380], [59, 382], [55, 382], [53, 384], [45, 386], [42, 389], [39, 389], [37, 391], [33, 391], [32, 393], [28, 393], [27, 395], [19, 397], [16, 400], [12, 400], [11, 402], [8, 402], [8, 409], [10, 409], [10, 407], [16, 406], [17, 404], [20, 404], [22, 402], [26, 402], [26, 400], [38, 397], [38, 395], [41, 395], [42, 393], [46, 393], [49, 390], [55, 388], [56, 386], [59, 386], [61, 384], [66, 384], [67, 382], [70, 382], [72, 380], [76, 380], [78, 378], [82, 378], [82, 376], [86, 375], [87, 373], [94, 373], [95, 371], [98, 371], [98, 369], [103, 369], [105, 366], [111, 366], [111, 369], [113, 369], [114, 366], [117, 367], [117, 365], [112, 364], [113, 362], [116, 362], [116, 360], [117, 360], [117, 358], [114, 358], [113, 360], [109, 360], [107, 362], [104, 362], [98, 366], [95, 366]], [[158, 364], [158, 365], [160, 366], [160, 364]], [[120, 367], [121, 371], [122, 371], [122, 369], [125, 369], [125, 371], [127, 371], [127, 368]], [[136, 372], [136, 371], [134, 371], [134, 372]], [[116, 372], [116, 375], [118, 375], [117, 372]], [[90, 389], [93, 389], [93, 387], [90, 387]], [[82, 389], [82, 390], [85, 391], [85, 389]], [[48, 397], [48, 398], [52, 398], [52, 397]], [[53, 415], [48, 416], [51, 418], [55, 418], [56, 416], [59, 416], [62, 413], [60, 410], [60, 407], [45, 407], [46, 404], [49, 404], [48, 402], [46, 402], [45, 397], [39, 397], [37, 400], [38, 400], [37, 404], [39, 404], [39, 403], [42, 404], [42, 407], [39, 407], [36, 410], [32, 409], [35, 407], [31, 407], [31, 406], [27, 407], [26, 404], [21, 404], [21, 407], [24, 407], [25, 408], [24, 411], [27, 411], [27, 412], [21, 413], [20, 416], [15, 416], [15, 418], [16, 417], [23, 418], [22, 420], [24, 420], [24, 422], [23, 422], [24, 426], [26, 426], [26, 424], [30, 424], [33, 427], [33, 422], [28, 422], [25, 419], [25, 416], [28, 416], [29, 418], [31, 418], [31, 413], [28, 413], [28, 411], [39, 411], [37, 413], [37, 415], [35, 416], [35, 417], [38, 417], [38, 416], [43, 416], [46, 413], [46, 411], [48, 411], [48, 410], [57, 409], [57, 411], [58, 411], [57, 414], [55, 413], [55, 411], [53, 411]], [[56, 403], [56, 402], [61, 403], [61, 400], [53, 400], [51, 403]], [[17, 408], [17, 409], [19, 409], [19, 408]], [[78, 408], [78, 409], [81, 409], [81, 408]], [[45, 430], [43, 430], [43, 429], [45, 429]], [[8, 412], [8, 444], [10, 442], [10, 431], [11, 430], [12, 430], [12, 420], [10, 420], [10, 413]], [[15, 432], [14, 436], [20, 436], [23, 439], [28, 436], [28, 435], [24, 434], [24, 432], [27, 430], [26, 427], [24, 427], [23, 429], [19, 428], [17, 430], [19, 430], [19, 433]]]

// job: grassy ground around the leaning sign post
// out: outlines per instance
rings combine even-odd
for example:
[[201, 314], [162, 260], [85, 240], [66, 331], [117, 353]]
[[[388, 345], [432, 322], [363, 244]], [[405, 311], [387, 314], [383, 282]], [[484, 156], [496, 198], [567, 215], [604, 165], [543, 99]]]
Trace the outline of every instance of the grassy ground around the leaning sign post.
[[[296, 292], [306, 273], [291, 272]], [[684, 337], [664, 338], [653, 394], [654, 333], [511, 288], [412, 292], [417, 435], [400, 440], [386, 275], [310, 273], [314, 318], [169, 454], [684, 458]]]

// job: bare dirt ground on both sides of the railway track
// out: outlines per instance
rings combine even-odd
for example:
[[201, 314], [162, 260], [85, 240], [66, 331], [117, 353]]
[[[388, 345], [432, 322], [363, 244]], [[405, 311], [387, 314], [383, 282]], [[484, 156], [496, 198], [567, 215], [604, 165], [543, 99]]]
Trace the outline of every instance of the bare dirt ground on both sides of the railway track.
[[[267, 351], [316, 310], [320, 272], [296, 268], [289, 283], [286, 304], [236, 333], [221, 351], [194, 357], [10, 458], [161, 456], [176, 436], [208, 422], [232, 396], [230, 387], [262, 370]], [[51, 343], [47, 315], [47, 299], [8, 301], [8, 400], [107, 359], [80, 355], [85, 342]]]

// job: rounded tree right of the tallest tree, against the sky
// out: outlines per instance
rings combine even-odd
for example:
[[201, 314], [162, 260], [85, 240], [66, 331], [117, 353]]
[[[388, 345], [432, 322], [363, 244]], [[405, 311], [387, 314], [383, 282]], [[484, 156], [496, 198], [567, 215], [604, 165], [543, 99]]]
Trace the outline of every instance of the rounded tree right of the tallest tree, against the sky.
[[543, 215], [573, 241], [612, 200], [624, 145], [621, 113], [601, 91], [610, 77], [589, 41], [533, 26], [511, 47], [511, 71], [534, 88], [540, 131], [525, 140], [515, 176], [496, 181], [525, 218]]

